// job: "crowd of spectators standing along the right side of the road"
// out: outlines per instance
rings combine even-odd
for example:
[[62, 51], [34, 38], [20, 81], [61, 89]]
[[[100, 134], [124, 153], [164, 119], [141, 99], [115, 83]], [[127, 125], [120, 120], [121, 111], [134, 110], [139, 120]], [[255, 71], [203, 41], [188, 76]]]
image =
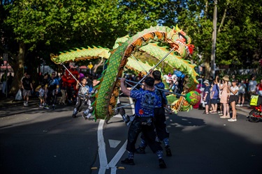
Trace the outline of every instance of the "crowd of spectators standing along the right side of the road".
[[248, 105], [252, 95], [262, 96], [262, 79], [256, 81], [255, 75], [250, 80], [237, 79], [235, 75], [225, 75], [222, 78], [217, 76], [210, 81], [205, 79], [197, 87], [204, 88], [204, 114], [218, 113], [220, 118], [228, 118], [229, 122], [237, 120], [236, 107], [244, 106], [245, 103]]

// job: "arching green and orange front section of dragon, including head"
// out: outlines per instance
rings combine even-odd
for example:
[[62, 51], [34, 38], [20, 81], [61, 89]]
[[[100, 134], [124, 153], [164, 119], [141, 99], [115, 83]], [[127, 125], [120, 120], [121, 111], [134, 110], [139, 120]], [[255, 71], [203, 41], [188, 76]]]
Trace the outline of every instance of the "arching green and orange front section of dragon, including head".
[[[180, 36], [183, 36], [183, 39]], [[188, 56], [190, 53], [189, 44], [191, 39], [179, 29], [170, 29], [166, 26], [156, 26], [134, 35], [129, 40], [119, 45], [111, 52], [108, 59], [108, 68], [101, 79], [99, 92], [96, 94], [94, 103], [94, 115], [96, 118], [110, 119], [112, 109], [117, 103], [119, 96], [119, 77], [122, 77], [124, 66], [129, 56], [136, 49], [150, 42], [167, 42], [171, 47], [175, 47], [175, 52], [180, 56]]]

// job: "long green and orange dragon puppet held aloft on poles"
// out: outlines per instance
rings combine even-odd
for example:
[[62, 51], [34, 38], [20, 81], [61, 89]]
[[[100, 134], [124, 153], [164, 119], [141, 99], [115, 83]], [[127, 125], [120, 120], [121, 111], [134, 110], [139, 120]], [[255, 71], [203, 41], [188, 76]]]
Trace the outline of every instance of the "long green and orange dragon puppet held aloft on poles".
[[[166, 43], [166, 47], [160, 47], [159, 42]], [[168, 49], [173, 49], [169, 52]], [[87, 49], [76, 49], [71, 52], [61, 53], [59, 56], [51, 54], [54, 63], [61, 64], [69, 61], [80, 61], [92, 58], [107, 58], [107, 68], [102, 72], [101, 83], [95, 88], [98, 92], [94, 94], [96, 100], [94, 106], [94, 118], [109, 120], [113, 116], [113, 110], [117, 104], [119, 96], [120, 81], [124, 68], [130, 68], [146, 74], [152, 68], [148, 63], [140, 62], [132, 58], [132, 53], [136, 51], [146, 52], [159, 60], [163, 57], [165, 62], [186, 74], [184, 87], [187, 89], [179, 100], [173, 102], [174, 111], [188, 111], [192, 105], [198, 103], [200, 95], [194, 91], [198, 81], [198, 75], [194, 70], [194, 64], [185, 60], [192, 54], [194, 45], [191, 45], [191, 38], [178, 27], [170, 29], [167, 26], [152, 26], [129, 37], [118, 38], [114, 47], [110, 50], [103, 47], [88, 47]], [[142, 70], [142, 69], [143, 70]]]

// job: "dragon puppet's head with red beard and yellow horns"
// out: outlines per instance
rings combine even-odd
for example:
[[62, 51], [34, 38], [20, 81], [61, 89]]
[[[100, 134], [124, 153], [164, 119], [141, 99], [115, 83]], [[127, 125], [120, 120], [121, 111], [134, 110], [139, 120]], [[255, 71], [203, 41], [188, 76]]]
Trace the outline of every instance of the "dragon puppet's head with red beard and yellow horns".
[[170, 47], [175, 47], [175, 51], [178, 52], [182, 58], [193, 54], [194, 45], [190, 44], [191, 38], [177, 26], [173, 27], [168, 33], [167, 42], [170, 44]]

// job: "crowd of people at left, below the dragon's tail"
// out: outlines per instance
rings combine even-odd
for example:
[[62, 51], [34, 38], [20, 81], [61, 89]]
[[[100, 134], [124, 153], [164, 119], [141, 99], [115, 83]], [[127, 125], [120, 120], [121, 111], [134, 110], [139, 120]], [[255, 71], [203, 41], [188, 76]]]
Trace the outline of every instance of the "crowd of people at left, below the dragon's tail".
[[66, 70], [63, 70], [61, 73], [52, 72], [51, 74], [48, 72], [42, 74], [40, 72], [38, 79], [32, 79], [29, 72], [24, 72], [24, 76], [20, 80], [24, 106], [28, 106], [30, 96], [38, 97], [39, 107], [45, 109], [50, 109], [51, 107], [54, 109], [56, 104], [74, 105], [78, 95], [77, 81], [81, 81], [85, 77], [88, 81], [87, 85], [92, 86], [93, 79], [98, 79], [101, 76], [100, 74], [89, 74], [89, 71], [78, 72], [76, 69], [73, 71], [75, 71], [73, 74], [66, 73]]

